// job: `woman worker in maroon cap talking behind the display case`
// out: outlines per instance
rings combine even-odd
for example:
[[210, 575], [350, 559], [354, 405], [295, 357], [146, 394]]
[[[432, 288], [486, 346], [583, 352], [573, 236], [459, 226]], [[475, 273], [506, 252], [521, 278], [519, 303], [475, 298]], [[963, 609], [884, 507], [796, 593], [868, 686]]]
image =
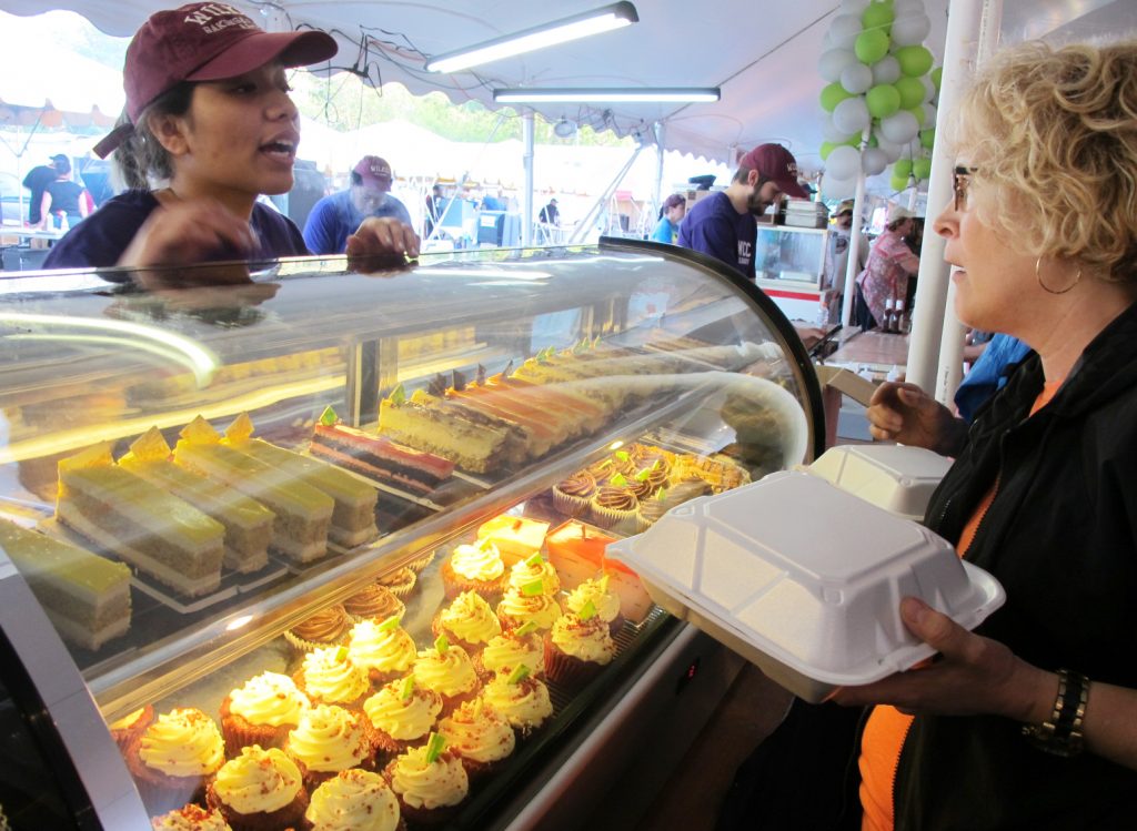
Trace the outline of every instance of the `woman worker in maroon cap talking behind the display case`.
[[[299, 228], [257, 197], [292, 188], [299, 113], [284, 69], [335, 50], [326, 33], [269, 34], [226, 3], [151, 15], [126, 50], [126, 108], [96, 146], [100, 157], [115, 151], [130, 190], [64, 236], [45, 267], [308, 254]], [[414, 257], [418, 239], [398, 221], [368, 219], [348, 252]]]

